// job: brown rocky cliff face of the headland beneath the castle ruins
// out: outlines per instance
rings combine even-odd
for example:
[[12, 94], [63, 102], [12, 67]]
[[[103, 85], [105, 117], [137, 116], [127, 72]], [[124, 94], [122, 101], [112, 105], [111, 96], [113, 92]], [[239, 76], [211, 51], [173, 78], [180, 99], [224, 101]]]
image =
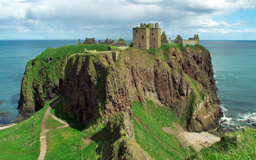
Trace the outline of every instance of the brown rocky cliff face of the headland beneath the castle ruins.
[[[49, 64], [47, 60], [44, 63]], [[188, 131], [214, 129], [222, 116], [211, 56], [201, 45], [162, 45], [148, 51], [129, 48], [120, 51], [115, 62], [111, 53], [73, 54], [59, 63], [55, 65], [58, 69], [48, 69], [48, 76], [44, 76], [47, 66], [38, 73], [33, 72], [33, 66], [27, 67], [20, 113], [33, 114], [45, 100], [63, 92], [63, 109], [84, 124], [104, 122], [118, 112], [127, 113], [131, 122], [132, 100], [145, 104], [146, 99], [172, 108]], [[51, 72], [61, 74], [49, 81]], [[26, 84], [28, 74], [40, 77], [31, 80], [30, 87]]]

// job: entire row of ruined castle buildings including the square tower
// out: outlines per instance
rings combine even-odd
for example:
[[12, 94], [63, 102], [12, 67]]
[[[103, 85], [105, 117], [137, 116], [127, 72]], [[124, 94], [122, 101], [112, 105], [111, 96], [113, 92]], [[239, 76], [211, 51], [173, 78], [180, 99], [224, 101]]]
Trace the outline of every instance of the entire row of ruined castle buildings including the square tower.
[[[163, 31], [161, 35], [161, 28], [159, 24], [149, 23], [149, 24], [140, 24], [140, 27], [132, 28], [132, 42], [129, 46], [138, 47], [140, 49], [158, 49], [161, 46], [161, 43], [171, 44], [171, 38], [167, 40], [165, 32]], [[188, 40], [183, 40], [183, 38], [178, 35], [174, 40], [175, 44], [182, 45], [196, 45], [199, 44], [198, 35], [195, 35], [194, 38], [189, 38]], [[77, 44], [81, 44], [80, 39]], [[86, 38], [83, 44], [97, 44], [95, 38]], [[120, 38], [117, 42], [111, 39], [106, 39], [105, 42], [99, 40], [99, 44], [113, 45], [116, 47], [124, 47], [127, 44], [125, 41]]]

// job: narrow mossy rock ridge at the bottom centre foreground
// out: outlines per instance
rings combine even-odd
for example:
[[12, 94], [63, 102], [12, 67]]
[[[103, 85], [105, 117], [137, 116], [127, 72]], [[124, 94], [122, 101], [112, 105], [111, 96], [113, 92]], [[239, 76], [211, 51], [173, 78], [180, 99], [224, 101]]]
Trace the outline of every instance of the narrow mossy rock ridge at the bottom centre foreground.
[[103, 159], [152, 159], [134, 140], [131, 116], [126, 112], [114, 113], [95, 140]]

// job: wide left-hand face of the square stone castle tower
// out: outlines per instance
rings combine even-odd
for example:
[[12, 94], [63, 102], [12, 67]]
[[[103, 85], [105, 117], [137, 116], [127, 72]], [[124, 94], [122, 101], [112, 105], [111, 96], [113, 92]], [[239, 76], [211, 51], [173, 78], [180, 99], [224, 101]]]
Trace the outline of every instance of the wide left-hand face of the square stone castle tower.
[[148, 28], [132, 28], [133, 47], [141, 49], [149, 49], [149, 29]]

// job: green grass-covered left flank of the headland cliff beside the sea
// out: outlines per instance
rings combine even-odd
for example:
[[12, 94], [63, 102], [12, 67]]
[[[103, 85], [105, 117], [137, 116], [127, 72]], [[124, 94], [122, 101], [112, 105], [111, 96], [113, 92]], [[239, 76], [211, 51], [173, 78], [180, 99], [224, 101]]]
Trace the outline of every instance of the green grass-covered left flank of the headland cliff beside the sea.
[[67, 60], [76, 53], [108, 51], [108, 45], [68, 45], [46, 49], [28, 62], [20, 90], [19, 122], [43, 108], [46, 100], [60, 94]]

